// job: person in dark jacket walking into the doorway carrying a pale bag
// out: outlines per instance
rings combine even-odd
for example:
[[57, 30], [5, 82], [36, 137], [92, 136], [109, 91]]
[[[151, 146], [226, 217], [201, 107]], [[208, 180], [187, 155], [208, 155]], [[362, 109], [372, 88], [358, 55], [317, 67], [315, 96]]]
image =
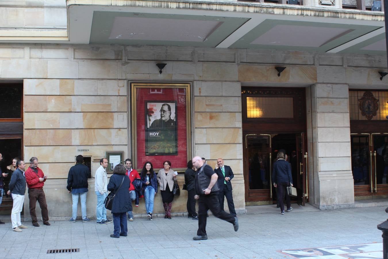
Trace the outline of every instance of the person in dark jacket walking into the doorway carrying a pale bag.
[[286, 155], [279, 151], [276, 156], [276, 162], [274, 163], [274, 169], [272, 170], [272, 179], [274, 187], [277, 188], [277, 197], [280, 205], [280, 214], [284, 214], [284, 193], [286, 194], [287, 212], [292, 210], [290, 197], [286, 191], [286, 187], [292, 183], [291, 164], [286, 161]]

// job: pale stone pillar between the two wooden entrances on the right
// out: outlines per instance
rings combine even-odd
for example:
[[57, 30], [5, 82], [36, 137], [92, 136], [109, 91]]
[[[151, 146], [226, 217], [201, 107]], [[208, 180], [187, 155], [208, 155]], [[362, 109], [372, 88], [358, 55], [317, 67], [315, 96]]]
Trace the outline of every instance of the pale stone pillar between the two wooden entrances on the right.
[[[350, 153], [349, 87], [346, 84], [311, 86], [313, 163], [309, 177], [310, 202], [320, 209], [348, 207], [354, 203]], [[310, 138], [311, 139], [311, 138]], [[313, 184], [313, 186], [312, 186]]]

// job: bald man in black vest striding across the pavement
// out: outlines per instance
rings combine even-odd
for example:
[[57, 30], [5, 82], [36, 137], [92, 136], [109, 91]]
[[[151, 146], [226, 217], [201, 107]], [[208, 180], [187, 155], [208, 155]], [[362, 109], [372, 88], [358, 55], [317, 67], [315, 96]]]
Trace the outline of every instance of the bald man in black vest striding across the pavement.
[[226, 213], [220, 209], [220, 203], [218, 202], [218, 184], [217, 174], [206, 163], [203, 163], [200, 156], [195, 156], [192, 159], [192, 164], [197, 168], [195, 177], [195, 191], [196, 195], [194, 199], [198, 200], [198, 231], [197, 236], [193, 237], [193, 240], [206, 240], [206, 213], [208, 209], [214, 216], [219, 219], [223, 219], [233, 224], [234, 231], [239, 229], [239, 223], [237, 217], [232, 214]]

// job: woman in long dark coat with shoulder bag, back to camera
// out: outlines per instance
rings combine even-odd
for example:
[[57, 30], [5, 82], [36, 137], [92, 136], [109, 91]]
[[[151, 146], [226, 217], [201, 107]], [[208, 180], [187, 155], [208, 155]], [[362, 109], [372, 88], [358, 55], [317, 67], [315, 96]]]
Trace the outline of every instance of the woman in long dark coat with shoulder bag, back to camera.
[[[130, 202], [129, 198], [130, 181], [129, 177], [125, 175], [125, 172], [124, 165], [116, 165], [113, 169], [113, 176], [111, 176], [108, 183], [108, 191], [116, 191], [116, 196], [113, 199], [112, 205], [114, 231], [111, 237], [114, 238], [127, 236], [128, 228], [126, 224], [126, 212], [132, 210], [132, 202]], [[123, 184], [120, 189], [118, 189], [121, 181], [123, 181]]]

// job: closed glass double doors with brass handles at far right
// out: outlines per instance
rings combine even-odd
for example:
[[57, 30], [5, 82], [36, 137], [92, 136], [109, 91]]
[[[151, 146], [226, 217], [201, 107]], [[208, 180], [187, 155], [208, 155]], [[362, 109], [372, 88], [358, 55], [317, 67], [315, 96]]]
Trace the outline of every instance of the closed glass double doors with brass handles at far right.
[[388, 134], [351, 134], [352, 173], [356, 200], [388, 196]]

